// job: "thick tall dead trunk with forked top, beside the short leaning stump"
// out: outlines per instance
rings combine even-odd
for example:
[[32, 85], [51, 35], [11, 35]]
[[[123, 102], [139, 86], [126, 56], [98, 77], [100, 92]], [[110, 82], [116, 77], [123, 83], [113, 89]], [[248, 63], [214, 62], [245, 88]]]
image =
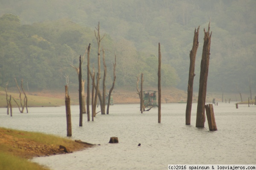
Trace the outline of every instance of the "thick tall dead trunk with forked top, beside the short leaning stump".
[[207, 78], [209, 70], [209, 58], [210, 58], [210, 46], [211, 46], [211, 36], [212, 32], [210, 31], [210, 22], [208, 25], [208, 31], [204, 29], [204, 46], [201, 59], [201, 71], [199, 79], [199, 92], [198, 92], [198, 106], [197, 106], [197, 115], [196, 115], [196, 127], [204, 127], [205, 122], [205, 111], [204, 105], [206, 101], [206, 91], [207, 91]]

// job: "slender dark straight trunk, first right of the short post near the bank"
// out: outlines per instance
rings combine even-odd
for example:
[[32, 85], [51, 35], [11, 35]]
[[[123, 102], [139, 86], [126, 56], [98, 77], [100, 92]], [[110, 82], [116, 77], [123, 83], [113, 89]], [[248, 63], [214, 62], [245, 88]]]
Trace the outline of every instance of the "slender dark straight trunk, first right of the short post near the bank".
[[81, 55], [79, 57], [79, 126], [83, 126], [83, 105], [82, 105], [82, 69], [81, 69]]

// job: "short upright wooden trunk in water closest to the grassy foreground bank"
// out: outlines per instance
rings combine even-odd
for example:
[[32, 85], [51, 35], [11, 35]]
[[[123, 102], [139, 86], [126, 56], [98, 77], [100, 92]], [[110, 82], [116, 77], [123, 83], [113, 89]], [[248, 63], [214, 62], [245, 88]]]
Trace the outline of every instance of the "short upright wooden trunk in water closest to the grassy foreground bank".
[[66, 105], [66, 117], [67, 117], [67, 136], [72, 136], [70, 96], [68, 95], [67, 85], [65, 86], [65, 105]]

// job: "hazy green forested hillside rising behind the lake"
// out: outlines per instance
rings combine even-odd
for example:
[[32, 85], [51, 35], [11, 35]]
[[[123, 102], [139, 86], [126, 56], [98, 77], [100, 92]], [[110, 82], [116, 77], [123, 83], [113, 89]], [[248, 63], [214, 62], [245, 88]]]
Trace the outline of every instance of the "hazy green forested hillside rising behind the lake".
[[189, 51], [200, 26], [198, 90], [204, 28], [211, 21], [208, 90], [248, 92], [251, 78], [256, 91], [255, 0], [0, 0], [0, 86], [23, 78], [30, 89], [55, 89], [66, 84], [66, 75], [78, 86], [70, 64], [78, 66], [91, 43], [90, 66], [97, 67], [98, 21], [105, 35], [107, 86], [116, 52], [116, 87], [136, 88], [141, 72], [144, 85], [156, 87], [160, 42], [163, 86], [186, 90]]

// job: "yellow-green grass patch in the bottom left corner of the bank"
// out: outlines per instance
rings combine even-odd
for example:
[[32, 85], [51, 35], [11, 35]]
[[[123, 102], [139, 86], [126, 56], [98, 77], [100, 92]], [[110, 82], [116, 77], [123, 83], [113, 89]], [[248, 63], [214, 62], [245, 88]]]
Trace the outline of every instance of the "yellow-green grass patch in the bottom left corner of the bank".
[[0, 170], [49, 170], [25, 158], [0, 152]]

